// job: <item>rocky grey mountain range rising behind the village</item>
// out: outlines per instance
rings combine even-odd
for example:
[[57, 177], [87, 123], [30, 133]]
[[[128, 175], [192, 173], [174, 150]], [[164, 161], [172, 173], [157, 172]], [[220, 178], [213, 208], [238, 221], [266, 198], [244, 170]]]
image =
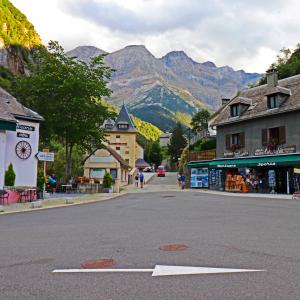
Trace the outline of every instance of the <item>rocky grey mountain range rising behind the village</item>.
[[110, 79], [112, 103], [127, 104], [135, 116], [162, 130], [171, 130], [177, 121], [187, 125], [199, 108], [216, 110], [222, 98], [256, 83], [261, 74], [235, 71], [213, 62], [199, 63], [183, 51], [156, 58], [145, 46], [131, 45], [107, 53], [93, 46], [79, 46], [66, 53], [88, 62], [105, 54], [106, 65], [115, 69]]

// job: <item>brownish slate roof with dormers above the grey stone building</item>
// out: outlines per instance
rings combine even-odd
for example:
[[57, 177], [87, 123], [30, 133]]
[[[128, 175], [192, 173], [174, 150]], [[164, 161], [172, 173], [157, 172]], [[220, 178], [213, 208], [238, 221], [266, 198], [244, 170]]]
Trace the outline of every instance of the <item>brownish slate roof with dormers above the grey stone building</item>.
[[[275, 109], [268, 109], [267, 95], [283, 94], [286, 101]], [[247, 99], [247, 100], [245, 100]], [[252, 103], [250, 104], [250, 101]], [[249, 103], [249, 108], [238, 117], [230, 116], [230, 105], [235, 103]], [[242, 122], [249, 119], [261, 118], [289, 111], [300, 110], [300, 75], [292, 76], [278, 81], [278, 86], [270, 87], [267, 84], [241, 91], [219, 110], [218, 116], [211, 126], [220, 126], [230, 123]]]

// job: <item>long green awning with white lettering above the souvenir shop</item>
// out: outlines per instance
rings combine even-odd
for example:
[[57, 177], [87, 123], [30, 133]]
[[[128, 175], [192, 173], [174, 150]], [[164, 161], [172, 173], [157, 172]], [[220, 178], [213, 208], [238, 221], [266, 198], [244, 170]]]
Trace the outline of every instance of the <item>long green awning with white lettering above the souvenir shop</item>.
[[242, 168], [242, 167], [273, 167], [273, 166], [299, 166], [300, 153], [252, 156], [245, 158], [214, 159], [211, 161], [190, 162], [190, 168], [222, 169], [222, 168]]

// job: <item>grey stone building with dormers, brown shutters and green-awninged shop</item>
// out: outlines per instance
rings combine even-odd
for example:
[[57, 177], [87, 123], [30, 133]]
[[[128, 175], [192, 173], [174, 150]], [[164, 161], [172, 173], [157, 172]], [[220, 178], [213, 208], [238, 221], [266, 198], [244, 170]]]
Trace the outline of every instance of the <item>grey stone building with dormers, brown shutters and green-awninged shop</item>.
[[253, 191], [300, 189], [300, 75], [278, 80], [276, 72], [268, 73], [267, 84], [228, 101], [212, 126], [217, 158], [189, 164], [211, 170], [210, 188], [241, 191], [247, 181]]

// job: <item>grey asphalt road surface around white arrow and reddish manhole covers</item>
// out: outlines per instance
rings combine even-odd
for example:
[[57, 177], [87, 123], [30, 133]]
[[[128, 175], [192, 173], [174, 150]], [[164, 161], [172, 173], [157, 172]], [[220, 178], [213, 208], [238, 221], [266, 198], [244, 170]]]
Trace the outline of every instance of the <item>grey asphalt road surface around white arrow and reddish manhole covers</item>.
[[[300, 202], [164, 191], [0, 216], [0, 299], [300, 299]], [[186, 251], [159, 247], [185, 244]], [[151, 277], [53, 274], [85, 260], [114, 268], [156, 264], [266, 269]]]

